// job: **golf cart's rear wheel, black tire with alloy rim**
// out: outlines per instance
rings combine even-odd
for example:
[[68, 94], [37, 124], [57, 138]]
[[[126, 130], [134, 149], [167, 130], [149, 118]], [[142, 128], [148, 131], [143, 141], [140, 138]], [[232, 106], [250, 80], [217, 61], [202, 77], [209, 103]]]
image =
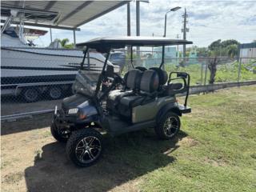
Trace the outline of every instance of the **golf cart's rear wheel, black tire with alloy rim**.
[[181, 122], [178, 115], [173, 112], [168, 112], [160, 118], [158, 126], [155, 126], [154, 130], [158, 138], [171, 139], [178, 134], [180, 126]]

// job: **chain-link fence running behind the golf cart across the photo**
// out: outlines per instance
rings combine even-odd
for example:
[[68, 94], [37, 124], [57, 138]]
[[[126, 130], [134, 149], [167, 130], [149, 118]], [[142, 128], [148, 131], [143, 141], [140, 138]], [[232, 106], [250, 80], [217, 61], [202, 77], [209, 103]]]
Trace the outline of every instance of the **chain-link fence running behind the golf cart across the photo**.
[[[146, 68], [159, 66], [161, 51], [116, 50], [110, 62], [119, 66], [124, 75], [134, 65]], [[72, 95], [72, 84], [82, 62], [81, 50], [2, 47], [1, 50], [1, 116], [53, 110], [62, 98]], [[102, 54], [90, 53], [86, 66], [102, 70]], [[190, 74], [191, 85], [256, 80], [256, 58], [168, 57], [167, 72]]]

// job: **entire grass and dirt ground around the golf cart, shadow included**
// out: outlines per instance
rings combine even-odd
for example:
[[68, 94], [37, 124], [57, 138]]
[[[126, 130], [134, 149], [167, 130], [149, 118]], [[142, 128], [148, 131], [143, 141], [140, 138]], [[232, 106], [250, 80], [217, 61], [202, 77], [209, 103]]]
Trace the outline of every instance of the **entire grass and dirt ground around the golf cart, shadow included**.
[[255, 191], [255, 93], [256, 86], [242, 86], [191, 95], [178, 137], [158, 140], [153, 129], [104, 135], [102, 158], [85, 169], [43, 128], [49, 116], [10, 122], [1, 138], [1, 190]]

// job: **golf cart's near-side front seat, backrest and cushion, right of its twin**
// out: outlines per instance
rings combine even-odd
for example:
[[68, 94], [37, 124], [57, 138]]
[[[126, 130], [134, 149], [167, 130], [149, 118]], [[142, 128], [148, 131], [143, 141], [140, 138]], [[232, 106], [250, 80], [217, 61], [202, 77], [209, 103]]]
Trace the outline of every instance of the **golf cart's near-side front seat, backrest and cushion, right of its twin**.
[[145, 105], [154, 101], [156, 91], [159, 87], [158, 73], [154, 70], [146, 70], [142, 74], [139, 86], [139, 93], [134, 95], [125, 95], [118, 102], [118, 112], [122, 117], [131, 120], [132, 109], [135, 106]]

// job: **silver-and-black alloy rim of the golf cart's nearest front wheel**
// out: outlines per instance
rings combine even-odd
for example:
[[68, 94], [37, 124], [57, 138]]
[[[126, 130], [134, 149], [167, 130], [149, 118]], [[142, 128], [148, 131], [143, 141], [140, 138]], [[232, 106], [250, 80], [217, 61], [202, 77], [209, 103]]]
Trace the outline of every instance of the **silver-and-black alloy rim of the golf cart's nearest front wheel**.
[[88, 136], [82, 138], [75, 148], [75, 155], [79, 162], [90, 163], [98, 158], [102, 151], [102, 145], [98, 138]]

